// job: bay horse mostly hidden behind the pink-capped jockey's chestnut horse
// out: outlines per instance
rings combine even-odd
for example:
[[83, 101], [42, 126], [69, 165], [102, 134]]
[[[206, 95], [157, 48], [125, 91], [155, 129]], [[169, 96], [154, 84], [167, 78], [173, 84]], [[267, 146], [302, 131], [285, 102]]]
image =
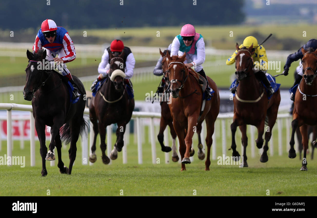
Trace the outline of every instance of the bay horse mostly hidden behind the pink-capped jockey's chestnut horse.
[[[163, 79], [165, 81], [165, 85], [164, 85], [164, 91], [163, 93], [165, 93], [166, 91], [166, 88], [168, 87], [169, 85], [169, 77], [168, 77], [168, 58], [167, 58], [167, 54], [164, 54], [161, 49], [159, 49], [159, 52], [162, 56], [162, 69], [163, 69]], [[168, 98], [168, 95], [169, 93], [167, 93], [167, 98]], [[159, 140], [159, 143], [161, 145], [161, 148], [162, 148], [162, 151], [164, 152], [169, 152], [169, 151], [173, 151], [172, 153], [172, 161], [173, 162], [178, 162], [179, 160], [179, 157], [177, 155], [177, 152], [176, 152], [176, 132], [174, 130], [174, 126], [173, 126], [173, 118], [171, 116], [171, 111], [170, 111], [170, 108], [168, 106], [168, 99], [165, 99], [165, 95], [164, 96], [164, 99], [161, 99], [161, 119], [160, 119], [160, 129], [159, 129], [159, 134], [158, 134], [158, 140]], [[173, 142], [172, 142], [172, 148], [170, 147], [167, 147], [164, 145], [164, 130], [166, 128], [166, 126], [169, 125], [170, 127], [170, 132], [171, 132], [171, 136], [172, 136], [172, 139], [173, 139]], [[202, 148], [203, 148], [203, 145], [201, 143], [201, 137], [200, 137], [200, 133], [201, 133], [201, 129], [202, 129], [202, 122], [198, 123], [197, 125], [197, 134], [198, 134], [198, 158], [200, 160], [204, 160], [205, 158], [205, 154], [204, 154], [204, 151], [202, 151]], [[194, 155], [195, 151], [194, 149], [191, 149], [191, 152], [190, 152], [190, 156], [192, 157]]]

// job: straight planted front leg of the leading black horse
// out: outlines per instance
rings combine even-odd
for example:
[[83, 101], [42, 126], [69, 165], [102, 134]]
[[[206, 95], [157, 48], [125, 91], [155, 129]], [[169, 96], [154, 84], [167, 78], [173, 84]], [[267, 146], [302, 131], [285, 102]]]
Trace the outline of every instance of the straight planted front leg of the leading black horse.
[[41, 120], [35, 118], [35, 129], [37, 132], [37, 137], [39, 138], [40, 141], [40, 154], [42, 157], [42, 176], [47, 175], [47, 170], [46, 170], [46, 162], [45, 162], [45, 157], [47, 154], [47, 147], [45, 145], [45, 124], [42, 123]]

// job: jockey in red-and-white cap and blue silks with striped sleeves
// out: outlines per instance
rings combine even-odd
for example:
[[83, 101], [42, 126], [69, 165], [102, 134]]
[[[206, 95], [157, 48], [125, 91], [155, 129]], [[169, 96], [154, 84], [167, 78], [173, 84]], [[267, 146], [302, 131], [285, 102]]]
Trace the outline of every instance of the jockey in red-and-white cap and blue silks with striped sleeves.
[[[65, 63], [74, 61], [76, 58], [76, 51], [73, 41], [68, 35], [68, 32], [63, 27], [57, 27], [53, 20], [46, 19], [42, 22], [41, 29], [38, 31], [33, 51], [44, 48], [46, 50], [46, 59], [48, 61], [55, 61], [56, 64], [63, 63], [62, 70], [59, 71], [63, 76], [66, 76], [70, 83], [74, 86], [74, 96], [79, 97], [78, 89], [74, 84], [72, 75]], [[58, 57], [56, 57], [56, 54]], [[54, 56], [54, 57], [53, 57]], [[51, 62], [53, 65], [53, 62]]]

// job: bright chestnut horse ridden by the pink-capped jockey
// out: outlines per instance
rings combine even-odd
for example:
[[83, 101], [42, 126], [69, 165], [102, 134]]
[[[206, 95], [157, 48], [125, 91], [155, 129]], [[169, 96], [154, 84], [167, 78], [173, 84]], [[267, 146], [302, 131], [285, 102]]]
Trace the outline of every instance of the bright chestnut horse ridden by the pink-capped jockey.
[[173, 126], [179, 140], [179, 152], [182, 158], [181, 171], [186, 170], [185, 163], [191, 163], [190, 151], [192, 137], [197, 131], [197, 123], [201, 124], [206, 119], [207, 125], [207, 158], [205, 161], [205, 170], [210, 166], [210, 147], [212, 144], [212, 134], [214, 133], [214, 124], [219, 113], [220, 98], [216, 83], [208, 78], [210, 87], [215, 91], [211, 100], [205, 102], [204, 111], [200, 115], [203, 103], [203, 91], [195, 79], [194, 75], [189, 73], [184, 66], [186, 53], [182, 57], [177, 55], [170, 56], [167, 52], [169, 61], [170, 78], [170, 104], [168, 105], [173, 118]]

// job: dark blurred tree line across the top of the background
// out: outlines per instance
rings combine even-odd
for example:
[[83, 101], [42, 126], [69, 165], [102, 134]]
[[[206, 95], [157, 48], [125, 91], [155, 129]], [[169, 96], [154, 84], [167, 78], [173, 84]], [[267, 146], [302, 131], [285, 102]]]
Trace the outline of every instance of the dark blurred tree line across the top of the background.
[[243, 3], [244, 0], [0, 0], [0, 29], [40, 29], [45, 19], [71, 29], [239, 24], [245, 20]]

